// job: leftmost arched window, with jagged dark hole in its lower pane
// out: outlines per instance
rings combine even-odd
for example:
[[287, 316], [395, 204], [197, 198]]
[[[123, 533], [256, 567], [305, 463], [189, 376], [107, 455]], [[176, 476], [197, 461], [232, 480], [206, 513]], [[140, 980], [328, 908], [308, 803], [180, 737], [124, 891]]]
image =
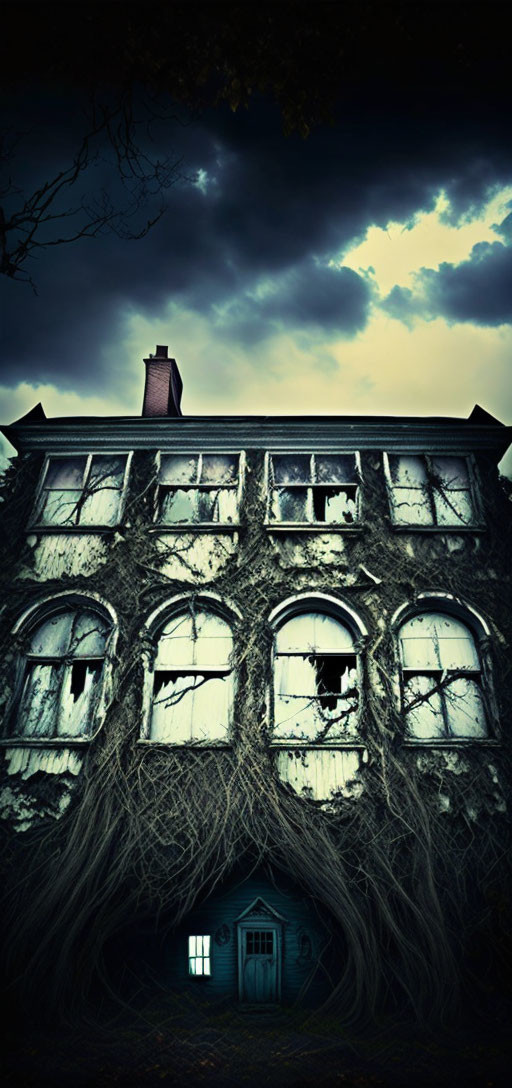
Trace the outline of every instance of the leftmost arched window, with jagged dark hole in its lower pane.
[[13, 737], [90, 735], [109, 633], [110, 625], [99, 611], [79, 606], [53, 610], [37, 626], [30, 625], [12, 715]]

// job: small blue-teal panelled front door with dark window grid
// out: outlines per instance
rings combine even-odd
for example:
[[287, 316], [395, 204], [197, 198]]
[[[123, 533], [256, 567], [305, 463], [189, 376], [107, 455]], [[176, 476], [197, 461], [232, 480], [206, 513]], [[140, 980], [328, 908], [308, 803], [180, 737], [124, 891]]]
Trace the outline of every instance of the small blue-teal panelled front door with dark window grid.
[[241, 925], [238, 934], [240, 1001], [277, 1004], [279, 1000], [279, 927], [271, 923]]

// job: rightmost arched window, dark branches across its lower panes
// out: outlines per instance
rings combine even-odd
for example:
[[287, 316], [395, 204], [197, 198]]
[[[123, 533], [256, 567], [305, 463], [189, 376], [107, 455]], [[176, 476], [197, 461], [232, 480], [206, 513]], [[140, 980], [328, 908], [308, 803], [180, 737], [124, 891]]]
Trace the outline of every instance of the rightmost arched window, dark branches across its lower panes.
[[423, 611], [399, 631], [408, 734], [416, 740], [487, 737], [478, 652], [470, 628]]

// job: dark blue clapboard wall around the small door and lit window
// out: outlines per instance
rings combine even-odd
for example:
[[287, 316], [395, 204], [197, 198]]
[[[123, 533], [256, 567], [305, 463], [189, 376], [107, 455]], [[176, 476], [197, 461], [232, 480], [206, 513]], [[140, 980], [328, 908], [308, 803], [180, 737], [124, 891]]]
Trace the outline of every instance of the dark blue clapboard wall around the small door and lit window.
[[[275, 883], [263, 874], [233, 883], [222, 893], [212, 895], [188, 915], [186, 922], [168, 938], [165, 947], [164, 972], [174, 988], [191, 989], [204, 997], [238, 998], [238, 962], [236, 919], [257, 899], [263, 899], [283, 923], [282, 1001], [292, 1003], [310, 976], [305, 1001], [320, 1000], [324, 992], [317, 959], [329, 935], [311, 900], [283, 877]], [[257, 928], [257, 925], [255, 925]], [[211, 935], [212, 974], [190, 977], [188, 974], [188, 936]], [[227, 938], [227, 940], [226, 940]], [[309, 952], [310, 944], [310, 955]]]

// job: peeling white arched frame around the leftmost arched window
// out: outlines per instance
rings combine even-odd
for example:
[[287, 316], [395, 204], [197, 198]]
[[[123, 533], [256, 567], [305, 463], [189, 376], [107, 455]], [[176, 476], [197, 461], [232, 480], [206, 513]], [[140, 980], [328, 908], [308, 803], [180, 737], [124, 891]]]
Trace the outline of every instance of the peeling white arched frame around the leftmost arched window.
[[[101, 677], [98, 680], [100, 684], [98, 698], [93, 715], [87, 724], [87, 732], [84, 731], [77, 737], [36, 737], [30, 733], [25, 734], [15, 732], [16, 713], [25, 682], [27, 660], [32, 658], [32, 655], [25, 652], [23, 643], [30, 638], [30, 634], [41, 623], [51, 619], [52, 616], [57, 616], [59, 613], [73, 610], [80, 611], [84, 609], [98, 613], [101, 619], [111, 626], [105, 640]], [[103, 726], [107, 709], [112, 696], [112, 672], [118, 634], [117, 616], [112, 608], [112, 605], [110, 605], [109, 602], [104, 601], [103, 597], [97, 593], [85, 594], [64, 592], [52, 594], [51, 596], [45, 597], [41, 601], [36, 602], [34, 605], [30, 605], [30, 607], [18, 617], [12, 628], [11, 634], [14, 644], [18, 644], [20, 648], [15, 668], [13, 694], [5, 708], [3, 734], [0, 739], [0, 746], [62, 749], [80, 747], [82, 745], [90, 744]], [[63, 657], [61, 657], [61, 660], [63, 660]]]

